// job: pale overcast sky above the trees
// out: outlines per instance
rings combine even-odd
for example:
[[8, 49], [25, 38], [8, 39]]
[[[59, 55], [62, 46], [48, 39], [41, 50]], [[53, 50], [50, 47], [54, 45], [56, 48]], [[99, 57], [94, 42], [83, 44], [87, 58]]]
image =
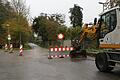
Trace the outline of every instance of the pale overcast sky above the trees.
[[93, 22], [95, 17], [98, 17], [102, 12], [102, 5], [98, 2], [105, 2], [106, 0], [26, 0], [27, 5], [30, 6], [30, 14], [34, 18], [40, 13], [61, 13], [66, 16], [66, 24], [69, 25], [69, 8], [74, 4], [78, 4], [83, 8], [83, 22]]

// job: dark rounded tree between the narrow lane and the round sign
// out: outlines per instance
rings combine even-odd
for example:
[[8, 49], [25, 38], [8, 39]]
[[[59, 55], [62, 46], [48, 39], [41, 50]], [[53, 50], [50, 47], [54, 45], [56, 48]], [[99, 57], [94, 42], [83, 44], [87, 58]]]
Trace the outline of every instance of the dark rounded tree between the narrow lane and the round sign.
[[47, 18], [45, 15], [40, 15], [33, 21], [33, 30], [35, 33], [38, 33], [38, 36], [42, 36], [43, 41], [48, 41], [55, 39], [55, 34], [59, 24], [52, 20], [52, 17]]

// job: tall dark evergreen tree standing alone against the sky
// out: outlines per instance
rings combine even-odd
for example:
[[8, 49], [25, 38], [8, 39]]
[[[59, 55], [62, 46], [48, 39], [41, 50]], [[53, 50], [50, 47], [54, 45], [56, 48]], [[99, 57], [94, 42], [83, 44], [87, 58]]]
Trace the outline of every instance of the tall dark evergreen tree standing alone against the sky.
[[83, 8], [74, 4], [73, 8], [70, 8], [69, 13], [71, 13], [70, 20], [73, 27], [82, 26], [82, 20], [83, 20], [83, 14], [82, 14]]

